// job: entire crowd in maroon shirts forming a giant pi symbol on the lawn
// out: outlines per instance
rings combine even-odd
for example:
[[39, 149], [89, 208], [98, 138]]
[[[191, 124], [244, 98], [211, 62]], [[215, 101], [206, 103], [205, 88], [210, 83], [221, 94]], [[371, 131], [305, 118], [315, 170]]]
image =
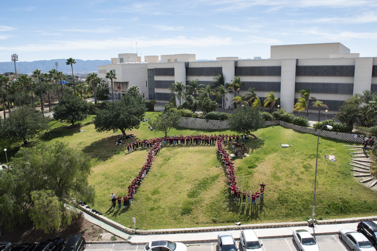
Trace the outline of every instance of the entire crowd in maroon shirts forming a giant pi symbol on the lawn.
[[[146, 175], [150, 171], [150, 167], [152, 166], [152, 161], [155, 158], [156, 154], [160, 151], [162, 145], [175, 145], [175, 144], [216, 144], [218, 148], [218, 154], [219, 157], [222, 159], [222, 161], [225, 164], [226, 172], [228, 173], [227, 181], [230, 182], [230, 192], [231, 196], [234, 197], [235, 200], [241, 201], [241, 193], [242, 193], [242, 198], [243, 198], [243, 204], [246, 204], [246, 198], [248, 205], [251, 206], [257, 205], [259, 198], [261, 198], [261, 201], [264, 198], [264, 190], [266, 184], [259, 184], [261, 188], [257, 192], [253, 192], [252, 190], [241, 190], [240, 187], [237, 186], [237, 183], [239, 181], [236, 180], [238, 176], [234, 175], [234, 172], [237, 169], [237, 167], [234, 166], [234, 163], [230, 161], [230, 154], [225, 151], [224, 147], [225, 144], [227, 144], [228, 139], [229, 143], [232, 142], [237, 142], [239, 141], [239, 138], [242, 139], [243, 142], [245, 142], [245, 135], [205, 135], [205, 134], [198, 134], [198, 135], [173, 135], [170, 137], [162, 137], [162, 138], [154, 138], [150, 140], [135, 140], [129, 145], [127, 145], [127, 150], [128, 152], [135, 151], [138, 148], [150, 148], [147, 155], [146, 155], [146, 160], [141, 167], [141, 170], [139, 172], [136, 172], [137, 175], [136, 177], [133, 177], [132, 181], [129, 181], [130, 185], [128, 187], [124, 187], [128, 189], [128, 193], [124, 193], [124, 195], [120, 195], [118, 193], [112, 193], [109, 195], [111, 197], [111, 202], [112, 202], [112, 208], [115, 209], [116, 207], [116, 202], [118, 202], [118, 209], [121, 209], [122, 206], [122, 199], [123, 199], [123, 208], [126, 208], [127, 205], [130, 207], [132, 205], [132, 199], [133, 196], [136, 195], [136, 192], [138, 188], [141, 185], [141, 182], [144, 180]], [[118, 194], [118, 196], [116, 196]]]

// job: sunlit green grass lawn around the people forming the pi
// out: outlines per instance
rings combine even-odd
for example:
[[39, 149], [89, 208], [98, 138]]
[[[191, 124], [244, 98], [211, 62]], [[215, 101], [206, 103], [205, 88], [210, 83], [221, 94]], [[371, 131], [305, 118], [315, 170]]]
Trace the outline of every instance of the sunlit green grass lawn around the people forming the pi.
[[[155, 114], [147, 113], [147, 117]], [[81, 122], [81, 129], [85, 130], [81, 133], [67, 123], [52, 122], [56, 133], [38, 137], [31, 141], [31, 145], [52, 144], [60, 140], [87, 153], [93, 160], [89, 182], [96, 190], [95, 203], [90, 206], [126, 227], [133, 228], [132, 217], [136, 218], [136, 227], [144, 230], [233, 225], [238, 221], [242, 224], [305, 221], [310, 218], [316, 164], [315, 135], [269, 126], [255, 132], [257, 140], [247, 140], [250, 156], [234, 158], [233, 161], [239, 167], [236, 175], [240, 176], [242, 188], [256, 190], [257, 183], [268, 184], [264, 203], [255, 208], [242, 206], [230, 198], [224, 167], [216, 155], [215, 146], [188, 145], [163, 147], [133, 205], [118, 211], [110, 209], [110, 198], [106, 193], [125, 193], [123, 188], [140, 169], [147, 150], [127, 154], [126, 145], [114, 145], [120, 132], [100, 134], [94, 130], [91, 120]], [[147, 122], [130, 133], [135, 135], [134, 138], [163, 135], [149, 131]], [[229, 134], [230, 131], [176, 128], [169, 132], [191, 133]], [[328, 138], [320, 138], [319, 142], [316, 219], [375, 215], [376, 192], [352, 177], [348, 166], [351, 155], [343, 146], [345, 142]], [[291, 147], [282, 148], [280, 144]], [[8, 146], [9, 152], [16, 151], [17, 147], [17, 143]], [[337, 161], [325, 160], [324, 155], [329, 154], [335, 155]]]

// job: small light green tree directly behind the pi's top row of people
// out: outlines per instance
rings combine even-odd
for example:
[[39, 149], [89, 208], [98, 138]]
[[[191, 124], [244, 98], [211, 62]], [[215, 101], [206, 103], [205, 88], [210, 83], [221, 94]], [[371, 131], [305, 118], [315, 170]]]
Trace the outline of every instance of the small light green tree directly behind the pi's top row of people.
[[175, 126], [182, 122], [183, 118], [179, 111], [168, 111], [167, 113], [159, 114], [156, 119], [148, 120], [149, 125], [159, 132], [164, 132], [165, 137], [167, 133]]

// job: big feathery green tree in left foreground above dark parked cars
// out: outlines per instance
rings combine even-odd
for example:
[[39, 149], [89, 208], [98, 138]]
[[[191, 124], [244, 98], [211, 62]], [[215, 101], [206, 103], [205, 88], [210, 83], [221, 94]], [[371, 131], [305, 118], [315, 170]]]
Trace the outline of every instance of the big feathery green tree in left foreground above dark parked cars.
[[0, 172], [0, 226], [32, 221], [47, 233], [77, 216], [68, 208], [73, 199], [93, 202], [90, 158], [65, 143], [21, 148], [11, 162]]

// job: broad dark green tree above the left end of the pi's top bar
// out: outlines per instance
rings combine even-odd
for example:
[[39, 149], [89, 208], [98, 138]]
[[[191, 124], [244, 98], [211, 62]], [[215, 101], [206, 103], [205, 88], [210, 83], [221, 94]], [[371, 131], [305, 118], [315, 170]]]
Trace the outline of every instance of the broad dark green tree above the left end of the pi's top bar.
[[109, 102], [103, 110], [96, 110], [94, 128], [97, 132], [120, 130], [126, 136], [127, 130], [139, 128], [140, 119], [144, 118], [146, 111], [146, 103], [141, 95], [133, 97], [126, 94], [120, 102]]

